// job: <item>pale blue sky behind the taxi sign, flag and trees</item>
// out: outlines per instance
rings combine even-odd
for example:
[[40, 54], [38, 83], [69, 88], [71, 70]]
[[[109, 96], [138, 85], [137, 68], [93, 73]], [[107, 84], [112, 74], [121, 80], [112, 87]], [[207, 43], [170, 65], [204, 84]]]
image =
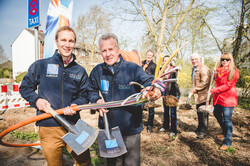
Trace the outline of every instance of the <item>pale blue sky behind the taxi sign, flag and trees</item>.
[[[208, 0], [208, 2], [216, 4], [222, 3], [226, 0]], [[47, 11], [50, 0], [40, 0], [41, 2], [41, 26], [40, 30], [45, 32], [45, 25], [47, 20]], [[79, 15], [85, 14], [89, 11], [92, 5], [100, 5], [104, 10], [113, 10], [109, 4], [103, 4], [103, 0], [74, 0], [72, 23], [76, 23]], [[114, 2], [115, 3], [115, 2]], [[116, 4], [113, 3], [113, 6]], [[224, 13], [225, 14], [225, 13]], [[216, 19], [219, 19], [217, 17]], [[0, 0], [0, 44], [3, 46], [7, 57], [11, 59], [11, 44], [15, 41], [17, 36], [24, 28], [27, 28], [27, 0]], [[128, 22], [112, 22], [114, 26], [113, 32], [119, 39], [125, 39], [131, 43], [139, 40], [143, 33], [142, 24], [128, 23]], [[31, 28], [33, 29], [33, 28]], [[218, 35], [223, 34], [224, 30], [218, 32]], [[216, 32], [215, 32], [216, 34]], [[217, 36], [218, 36], [217, 35]]]

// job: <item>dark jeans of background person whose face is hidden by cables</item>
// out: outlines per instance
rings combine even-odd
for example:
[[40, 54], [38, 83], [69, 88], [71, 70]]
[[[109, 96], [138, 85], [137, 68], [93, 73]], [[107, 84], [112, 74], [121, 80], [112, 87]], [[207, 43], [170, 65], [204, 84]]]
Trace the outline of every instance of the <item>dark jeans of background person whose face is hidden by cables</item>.
[[[164, 113], [163, 113], [163, 128], [169, 129], [169, 106], [166, 106], [163, 101]], [[171, 128], [170, 132], [177, 133], [177, 114], [176, 107], [170, 107], [171, 115]]]

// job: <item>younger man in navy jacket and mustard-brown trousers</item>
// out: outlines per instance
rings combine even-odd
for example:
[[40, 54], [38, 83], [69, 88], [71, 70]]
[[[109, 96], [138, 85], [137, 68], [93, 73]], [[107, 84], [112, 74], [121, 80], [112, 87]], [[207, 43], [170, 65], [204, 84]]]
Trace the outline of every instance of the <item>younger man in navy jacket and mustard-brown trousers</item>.
[[[37, 114], [49, 113], [64, 108], [64, 118], [71, 124], [76, 124], [80, 118], [69, 106], [87, 104], [88, 75], [83, 67], [75, 62], [72, 53], [76, 43], [76, 34], [70, 27], [64, 26], [57, 30], [55, 36], [57, 50], [51, 58], [34, 62], [24, 76], [20, 93]], [[36, 92], [38, 88], [38, 92]], [[65, 142], [62, 140], [67, 131], [54, 118], [40, 120], [39, 138], [48, 165], [62, 165], [62, 151]], [[68, 146], [76, 165], [90, 165], [89, 150], [77, 156]]]

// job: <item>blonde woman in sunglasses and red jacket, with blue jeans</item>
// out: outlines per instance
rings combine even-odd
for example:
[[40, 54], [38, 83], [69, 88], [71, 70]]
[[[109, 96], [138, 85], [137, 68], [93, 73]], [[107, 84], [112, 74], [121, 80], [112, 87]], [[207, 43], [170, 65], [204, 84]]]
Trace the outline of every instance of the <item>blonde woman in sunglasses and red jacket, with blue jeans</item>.
[[214, 94], [214, 116], [222, 128], [223, 136], [221, 137], [224, 137], [220, 150], [227, 150], [232, 144], [232, 115], [238, 101], [235, 86], [238, 78], [239, 71], [234, 65], [232, 54], [222, 54], [214, 78], [216, 87], [210, 90], [211, 94]]

